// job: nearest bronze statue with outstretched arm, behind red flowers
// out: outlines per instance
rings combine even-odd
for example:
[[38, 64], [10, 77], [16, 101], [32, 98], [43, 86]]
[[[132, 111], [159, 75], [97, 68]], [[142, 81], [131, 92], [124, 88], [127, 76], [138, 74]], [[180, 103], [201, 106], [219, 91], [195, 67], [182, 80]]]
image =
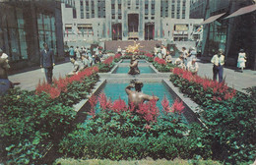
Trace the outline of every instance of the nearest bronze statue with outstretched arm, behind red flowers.
[[[138, 109], [139, 104], [143, 103], [144, 101], [150, 101], [150, 100], [153, 100], [153, 99], [156, 99], [157, 101], [159, 101], [159, 99], [160, 99], [158, 96], [152, 96], [152, 95], [144, 94], [141, 91], [142, 87], [143, 87], [142, 82], [132, 81], [125, 88], [125, 91], [128, 95], [128, 103], [129, 103], [129, 105], [131, 103], [133, 103], [133, 105], [135, 106], [135, 109]], [[135, 88], [135, 90], [132, 90], [131, 88]]]

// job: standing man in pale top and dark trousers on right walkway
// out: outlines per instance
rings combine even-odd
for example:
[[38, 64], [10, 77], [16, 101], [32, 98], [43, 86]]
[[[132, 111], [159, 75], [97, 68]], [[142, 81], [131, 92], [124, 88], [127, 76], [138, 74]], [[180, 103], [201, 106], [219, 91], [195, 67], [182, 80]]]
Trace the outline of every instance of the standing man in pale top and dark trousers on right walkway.
[[223, 75], [224, 75], [224, 55], [223, 55], [223, 49], [219, 49], [218, 54], [214, 55], [214, 57], [211, 60], [211, 63], [214, 64], [213, 68], [213, 74], [214, 78], [213, 80], [217, 80], [217, 75], [219, 75], [219, 83], [223, 82]]

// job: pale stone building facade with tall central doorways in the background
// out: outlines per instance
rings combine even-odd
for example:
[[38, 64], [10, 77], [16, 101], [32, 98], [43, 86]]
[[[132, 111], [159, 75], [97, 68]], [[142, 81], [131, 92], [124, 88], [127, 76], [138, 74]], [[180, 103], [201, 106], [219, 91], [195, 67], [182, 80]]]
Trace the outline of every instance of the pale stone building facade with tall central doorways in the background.
[[203, 20], [189, 19], [189, 0], [75, 0], [62, 4], [64, 40], [191, 40]]

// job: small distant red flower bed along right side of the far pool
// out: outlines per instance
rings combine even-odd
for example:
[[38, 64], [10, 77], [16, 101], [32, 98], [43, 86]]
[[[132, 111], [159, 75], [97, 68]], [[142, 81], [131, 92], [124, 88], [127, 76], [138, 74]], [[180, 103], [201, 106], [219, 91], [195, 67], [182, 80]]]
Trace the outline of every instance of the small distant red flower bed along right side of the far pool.
[[171, 69], [175, 68], [176, 66], [173, 64], [166, 63], [165, 60], [156, 57], [153, 62], [153, 66], [159, 72], [169, 72]]

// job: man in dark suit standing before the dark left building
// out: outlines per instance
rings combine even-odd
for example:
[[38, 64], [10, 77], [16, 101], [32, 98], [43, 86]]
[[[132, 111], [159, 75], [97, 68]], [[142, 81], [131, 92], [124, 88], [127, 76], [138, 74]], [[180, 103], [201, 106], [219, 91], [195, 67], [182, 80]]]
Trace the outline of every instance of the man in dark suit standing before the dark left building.
[[55, 66], [53, 50], [48, 48], [47, 43], [43, 43], [43, 49], [40, 52], [40, 67], [44, 68], [47, 83], [52, 83], [53, 66]]

